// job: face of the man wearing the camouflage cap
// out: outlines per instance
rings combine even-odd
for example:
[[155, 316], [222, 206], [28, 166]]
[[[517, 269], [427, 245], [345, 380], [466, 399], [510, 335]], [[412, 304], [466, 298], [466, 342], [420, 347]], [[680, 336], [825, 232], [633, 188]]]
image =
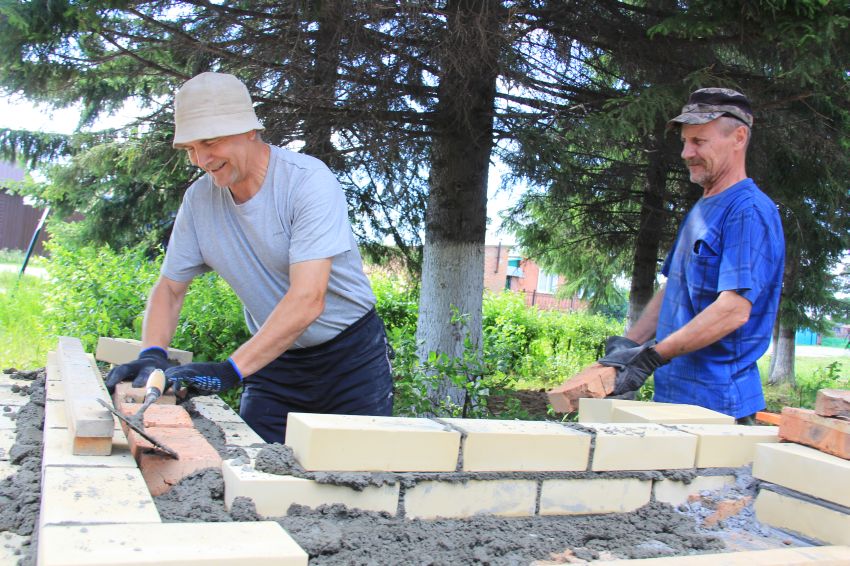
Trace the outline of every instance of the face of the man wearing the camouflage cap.
[[708, 196], [744, 179], [744, 154], [748, 130], [734, 118], [705, 124], [682, 124], [682, 159], [691, 182]]

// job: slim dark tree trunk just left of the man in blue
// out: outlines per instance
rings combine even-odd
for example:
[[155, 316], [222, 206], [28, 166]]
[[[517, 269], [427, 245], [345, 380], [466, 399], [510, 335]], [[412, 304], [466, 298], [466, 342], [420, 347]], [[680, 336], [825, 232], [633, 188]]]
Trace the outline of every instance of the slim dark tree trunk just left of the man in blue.
[[[660, 136], [660, 137], [659, 137]], [[664, 132], [656, 134], [662, 140]], [[640, 204], [640, 226], [635, 238], [632, 262], [632, 283], [629, 291], [629, 320], [631, 326], [640, 318], [644, 307], [655, 293], [655, 273], [658, 269], [658, 248], [664, 235], [666, 213], [667, 171], [659, 141], [650, 142], [649, 167], [643, 200]]]

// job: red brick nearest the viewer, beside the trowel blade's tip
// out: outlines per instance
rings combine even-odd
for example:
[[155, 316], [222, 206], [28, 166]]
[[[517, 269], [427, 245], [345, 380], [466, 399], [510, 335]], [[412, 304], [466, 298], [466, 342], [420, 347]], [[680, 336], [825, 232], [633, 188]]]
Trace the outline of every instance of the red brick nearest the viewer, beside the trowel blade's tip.
[[[146, 430], [157, 442], [177, 452], [178, 460], [157, 452], [140, 451], [137, 456], [142, 477], [151, 495], [162, 495], [184, 477], [204, 468], [221, 468], [221, 457], [203, 435], [194, 428], [154, 427]], [[131, 433], [131, 445], [147, 444]]]

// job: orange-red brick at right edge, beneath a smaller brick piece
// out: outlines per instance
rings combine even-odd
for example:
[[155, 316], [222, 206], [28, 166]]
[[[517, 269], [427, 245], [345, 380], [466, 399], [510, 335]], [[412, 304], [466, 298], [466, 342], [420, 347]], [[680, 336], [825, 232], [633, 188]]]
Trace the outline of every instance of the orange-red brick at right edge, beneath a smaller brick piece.
[[779, 438], [850, 460], [850, 422], [841, 419], [821, 417], [808, 409], [785, 407]]

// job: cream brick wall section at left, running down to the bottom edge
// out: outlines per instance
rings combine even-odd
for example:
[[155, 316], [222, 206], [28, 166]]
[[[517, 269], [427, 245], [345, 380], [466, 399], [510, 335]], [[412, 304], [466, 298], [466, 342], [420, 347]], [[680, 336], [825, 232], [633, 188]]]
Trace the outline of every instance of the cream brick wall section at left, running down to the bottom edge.
[[[47, 363], [39, 565], [131, 566], [167, 559], [175, 566], [306, 566], [307, 554], [273, 521], [162, 523], [130, 443], [106, 409], [109, 453], [75, 454], [80, 431], [69, 426], [68, 401], [81, 401], [80, 406], [88, 408], [85, 398], [66, 395], [67, 386], [107, 394], [94, 358], [83, 352], [78, 340], [60, 338], [57, 350]], [[93, 422], [86, 411], [72, 410]]]

